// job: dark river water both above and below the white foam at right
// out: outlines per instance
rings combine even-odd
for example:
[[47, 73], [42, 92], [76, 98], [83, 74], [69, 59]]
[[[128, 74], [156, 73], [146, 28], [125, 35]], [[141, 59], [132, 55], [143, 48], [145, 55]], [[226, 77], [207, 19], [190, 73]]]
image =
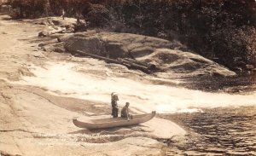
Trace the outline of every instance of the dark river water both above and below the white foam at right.
[[[193, 85], [197, 84], [200, 90], [247, 95], [255, 91], [255, 82], [255, 78], [206, 79]], [[256, 95], [254, 106], [206, 108], [202, 113], [160, 116], [190, 133], [186, 142], [161, 140], [170, 147], [170, 155], [256, 155]]]

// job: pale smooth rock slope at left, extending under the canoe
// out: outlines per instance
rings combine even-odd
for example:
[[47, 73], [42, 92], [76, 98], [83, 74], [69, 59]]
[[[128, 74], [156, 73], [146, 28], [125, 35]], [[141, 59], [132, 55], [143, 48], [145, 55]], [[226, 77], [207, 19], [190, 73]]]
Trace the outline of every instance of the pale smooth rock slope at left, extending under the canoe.
[[[0, 20], [1, 155], [161, 155], [164, 154], [161, 148], [166, 145], [156, 141], [156, 138], [183, 137], [186, 134], [177, 124], [161, 118], [154, 118], [141, 126], [113, 130], [90, 131], [75, 127], [72, 123], [74, 117], [110, 117], [110, 106], [96, 100], [67, 97], [68, 93], [58, 95], [58, 92], [64, 93], [63, 90], [55, 90], [53, 94], [43, 86], [20, 84], [23, 77], [35, 76], [33, 68], [39, 66], [46, 69], [44, 66], [47, 66], [47, 62], [73, 62], [72, 57], [37, 48], [35, 40], [45, 26], [3, 19], [8, 17], [1, 16]], [[84, 62], [76, 58], [73, 60]], [[102, 61], [88, 61], [103, 65]], [[88, 74], [92, 73], [93, 70]], [[96, 75], [100, 77], [100, 73], [96, 72]], [[52, 74], [48, 76], [57, 76]], [[57, 83], [55, 81], [50, 85], [55, 86]], [[167, 126], [164, 134], [158, 129], [160, 123]], [[180, 137], [176, 137], [177, 140]]]

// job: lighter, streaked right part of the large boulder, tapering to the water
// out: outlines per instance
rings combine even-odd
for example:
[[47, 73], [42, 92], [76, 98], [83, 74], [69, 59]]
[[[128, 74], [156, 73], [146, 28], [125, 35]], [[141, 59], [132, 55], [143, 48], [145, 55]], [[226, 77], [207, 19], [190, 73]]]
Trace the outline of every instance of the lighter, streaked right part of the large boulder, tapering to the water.
[[160, 69], [160, 72], [170, 73], [177, 77], [194, 77], [194, 76], [235, 76], [224, 66], [218, 65], [201, 55], [190, 52], [183, 52], [173, 49], [156, 49], [151, 55], [138, 59], [139, 61], [152, 63]]

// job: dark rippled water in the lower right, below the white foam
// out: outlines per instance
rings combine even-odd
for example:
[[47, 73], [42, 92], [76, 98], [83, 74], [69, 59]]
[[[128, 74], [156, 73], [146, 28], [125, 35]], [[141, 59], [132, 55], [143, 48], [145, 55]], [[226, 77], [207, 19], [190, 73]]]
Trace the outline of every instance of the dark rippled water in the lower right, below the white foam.
[[173, 153], [256, 155], [256, 107], [215, 108], [203, 111], [204, 113], [166, 115], [166, 118], [172, 118], [191, 131], [187, 142], [162, 141], [170, 147], [177, 147]]

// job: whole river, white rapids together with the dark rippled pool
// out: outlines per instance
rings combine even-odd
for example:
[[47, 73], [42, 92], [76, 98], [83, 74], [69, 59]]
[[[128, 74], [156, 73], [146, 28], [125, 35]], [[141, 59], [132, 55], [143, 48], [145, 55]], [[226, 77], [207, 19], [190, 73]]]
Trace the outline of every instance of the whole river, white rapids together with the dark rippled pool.
[[[210, 90], [202, 84], [198, 84], [201, 90], [192, 90], [79, 72], [79, 64], [68, 62], [49, 62], [44, 67], [31, 66], [30, 70], [35, 77], [23, 77], [16, 84], [38, 86], [49, 90], [50, 94], [105, 103], [115, 91], [119, 93], [119, 103], [130, 101], [133, 110], [156, 110], [160, 117], [177, 122], [189, 130], [191, 136], [183, 143], [160, 140], [173, 149], [172, 154], [256, 155], [256, 92], [255, 85], [247, 84], [246, 80], [247, 87], [233, 85], [236, 84], [234, 79], [216, 84], [212, 81], [213, 84], [207, 86], [222, 87], [209, 92], [201, 91]], [[232, 86], [223, 85], [229, 81], [233, 82]]]

